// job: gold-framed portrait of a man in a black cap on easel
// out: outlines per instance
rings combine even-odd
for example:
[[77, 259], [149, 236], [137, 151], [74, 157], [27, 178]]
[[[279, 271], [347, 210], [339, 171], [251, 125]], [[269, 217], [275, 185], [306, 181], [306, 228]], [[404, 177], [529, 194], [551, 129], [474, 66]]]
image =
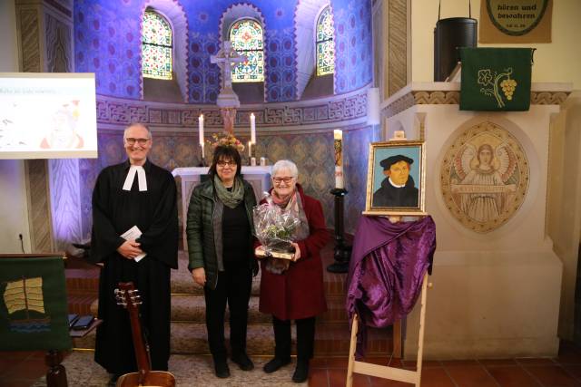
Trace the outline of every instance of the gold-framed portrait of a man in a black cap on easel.
[[371, 142], [363, 215], [427, 215], [425, 161], [423, 141]]

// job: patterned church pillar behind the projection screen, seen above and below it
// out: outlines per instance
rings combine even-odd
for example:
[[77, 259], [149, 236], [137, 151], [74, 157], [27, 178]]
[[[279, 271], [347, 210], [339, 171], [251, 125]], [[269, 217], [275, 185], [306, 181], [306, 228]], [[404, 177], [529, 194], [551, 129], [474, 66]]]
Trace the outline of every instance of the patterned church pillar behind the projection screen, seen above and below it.
[[[26, 73], [71, 73], [73, 2], [16, 0], [20, 68]], [[63, 250], [81, 240], [78, 160], [26, 160], [31, 248]]]

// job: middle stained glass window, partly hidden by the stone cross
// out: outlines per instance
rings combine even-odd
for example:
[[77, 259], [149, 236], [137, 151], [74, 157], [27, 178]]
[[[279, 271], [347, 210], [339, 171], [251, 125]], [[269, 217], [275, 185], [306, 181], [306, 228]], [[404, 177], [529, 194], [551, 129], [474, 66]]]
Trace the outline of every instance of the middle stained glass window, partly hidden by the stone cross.
[[245, 62], [232, 66], [232, 82], [264, 81], [262, 26], [252, 19], [238, 20], [230, 29], [232, 49], [245, 55]]

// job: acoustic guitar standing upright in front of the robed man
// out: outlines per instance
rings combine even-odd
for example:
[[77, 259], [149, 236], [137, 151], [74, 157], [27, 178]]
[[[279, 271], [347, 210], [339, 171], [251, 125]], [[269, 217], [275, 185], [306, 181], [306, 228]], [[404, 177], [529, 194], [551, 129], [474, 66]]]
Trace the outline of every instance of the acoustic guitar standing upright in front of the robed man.
[[118, 305], [123, 305], [129, 313], [135, 359], [139, 372], [125, 373], [117, 380], [117, 387], [156, 386], [174, 387], [175, 378], [171, 372], [152, 371], [152, 362], [149, 345], [142, 333], [142, 324], [139, 319], [139, 305], [141, 295], [135, 289], [133, 282], [120, 282], [119, 289], [115, 289], [115, 298]]

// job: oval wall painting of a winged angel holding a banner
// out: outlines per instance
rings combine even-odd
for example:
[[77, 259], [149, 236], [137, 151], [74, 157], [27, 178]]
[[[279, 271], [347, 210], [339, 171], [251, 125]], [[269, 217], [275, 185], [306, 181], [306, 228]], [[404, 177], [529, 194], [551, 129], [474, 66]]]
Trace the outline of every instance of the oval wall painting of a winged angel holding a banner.
[[452, 143], [440, 169], [446, 206], [464, 227], [487, 233], [512, 218], [527, 196], [529, 166], [518, 140], [483, 121]]

